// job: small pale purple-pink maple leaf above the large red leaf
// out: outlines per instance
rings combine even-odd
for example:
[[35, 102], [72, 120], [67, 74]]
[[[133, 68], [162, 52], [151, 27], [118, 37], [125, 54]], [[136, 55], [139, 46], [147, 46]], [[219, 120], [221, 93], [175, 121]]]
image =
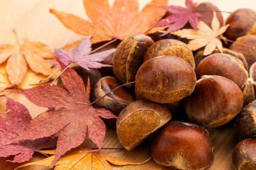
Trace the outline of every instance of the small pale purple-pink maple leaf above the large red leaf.
[[[112, 55], [113, 52], [116, 51], [116, 48], [95, 54], [89, 54], [92, 50], [90, 38], [91, 36], [87, 36], [84, 38], [84, 40], [81, 40], [76, 48], [72, 51], [72, 54], [63, 49], [55, 49], [56, 57], [65, 65], [76, 62], [82, 68], [87, 70], [89, 70], [89, 68], [102, 68], [106, 66], [112, 66], [105, 65], [100, 62], [104, 61], [106, 58]], [[57, 61], [49, 61], [49, 63], [52, 65], [58, 65]]]

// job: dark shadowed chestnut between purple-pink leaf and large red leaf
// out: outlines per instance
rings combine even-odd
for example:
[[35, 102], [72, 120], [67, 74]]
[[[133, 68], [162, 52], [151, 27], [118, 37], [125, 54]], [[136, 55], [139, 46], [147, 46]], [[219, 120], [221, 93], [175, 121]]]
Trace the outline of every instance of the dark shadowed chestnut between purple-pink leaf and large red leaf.
[[[72, 68], [83, 79], [85, 87], [87, 86], [87, 81], [88, 81], [88, 77], [89, 77], [89, 79], [90, 79], [90, 89], [91, 89], [91, 93], [92, 93], [94, 86], [99, 81], [99, 79], [102, 78], [102, 73], [96, 68], [90, 68], [90, 70], [86, 70], [86, 69], [82, 68], [79, 65], [74, 66]], [[57, 85], [62, 87], [62, 88], [65, 88], [64, 85], [62, 84], [61, 79], [58, 79]]]

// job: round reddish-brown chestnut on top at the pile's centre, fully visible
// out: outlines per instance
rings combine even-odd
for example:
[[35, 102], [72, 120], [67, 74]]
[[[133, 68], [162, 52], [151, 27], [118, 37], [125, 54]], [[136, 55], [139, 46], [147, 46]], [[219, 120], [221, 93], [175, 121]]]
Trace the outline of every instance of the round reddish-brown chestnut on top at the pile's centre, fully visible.
[[192, 94], [195, 71], [184, 59], [160, 56], [144, 62], [136, 74], [136, 87], [146, 99], [171, 103]]

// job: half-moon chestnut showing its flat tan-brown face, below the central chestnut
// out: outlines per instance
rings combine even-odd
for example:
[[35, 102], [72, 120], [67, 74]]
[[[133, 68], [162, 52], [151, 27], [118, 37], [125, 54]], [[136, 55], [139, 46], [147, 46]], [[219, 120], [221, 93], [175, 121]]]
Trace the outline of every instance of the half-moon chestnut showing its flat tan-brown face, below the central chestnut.
[[126, 150], [133, 150], [171, 118], [171, 113], [165, 105], [138, 100], [124, 108], [117, 117], [118, 139]]

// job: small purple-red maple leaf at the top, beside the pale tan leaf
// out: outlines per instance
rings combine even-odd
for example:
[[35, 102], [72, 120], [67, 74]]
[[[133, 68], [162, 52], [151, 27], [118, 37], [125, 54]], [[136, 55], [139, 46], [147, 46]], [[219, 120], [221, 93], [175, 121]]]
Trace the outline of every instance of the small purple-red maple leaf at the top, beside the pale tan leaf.
[[168, 22], [163, 20], [157, 25], [166, 26], [168, 24], [172, 24], [161, 36], [183, 28], [187, 22], [189, 22], [192, 28], [196, 30], [196, 26], [198, 25], [198, 17], [203, 16], [201, 13], [195, 11], [196, 4], [197, 3], [193, 3], [192, 0], [186, 0], [186, 8], [181, 6], [159, 6], [160, 8], [166, 9], [172, 13], [172, 15], [165, 18], [168, 20]]

